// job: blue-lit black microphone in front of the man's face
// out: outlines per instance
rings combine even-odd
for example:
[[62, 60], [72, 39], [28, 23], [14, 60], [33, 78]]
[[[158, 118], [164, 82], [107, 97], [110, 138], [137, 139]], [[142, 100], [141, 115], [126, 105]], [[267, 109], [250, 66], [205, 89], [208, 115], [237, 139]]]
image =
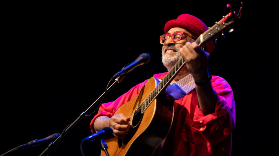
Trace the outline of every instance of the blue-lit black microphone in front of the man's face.
[[117, 72], [113, 77], [122, 76], [128, 72], [131, 72], [135, 67], [144, 65], [150, 61], [150, 55], [148, 53], [140, 54], [140, 56], [129, 65], [123, 67], [119, 72]]

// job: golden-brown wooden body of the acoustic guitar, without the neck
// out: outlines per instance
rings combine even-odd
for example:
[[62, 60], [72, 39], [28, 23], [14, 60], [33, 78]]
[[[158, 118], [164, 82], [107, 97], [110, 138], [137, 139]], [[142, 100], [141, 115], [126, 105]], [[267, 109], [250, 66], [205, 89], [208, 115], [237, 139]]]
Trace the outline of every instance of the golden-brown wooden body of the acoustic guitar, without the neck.
[[[115, 114], [123, 113], [125, 116], [132, 115], [128, 123], [128, 135], [125, 138], [106, 140], [110, 156], [152, 155], [168, 134], [173, 120], [173, 104], [163, 105], [155, 99], [144, 114], [141, 113], [141, 109], [135, 113], [138, 106], [156, 87], [155, 81], [154, 78], [149, 79], [135, 98], [115, 112]], [[101, 155], [106, 156], [104, 151]]]

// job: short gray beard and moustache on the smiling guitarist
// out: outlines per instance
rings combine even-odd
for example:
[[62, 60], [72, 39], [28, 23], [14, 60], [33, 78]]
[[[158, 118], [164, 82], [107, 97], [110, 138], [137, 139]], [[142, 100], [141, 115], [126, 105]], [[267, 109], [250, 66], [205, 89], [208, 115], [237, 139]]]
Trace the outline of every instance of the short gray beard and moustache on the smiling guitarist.
[[[173, 48], [176, 50], [175, 54], [165, 54], [166, 48]], [[179, 49], [175, 46], [167, 46], [162, 50], [162, 62], [168, 71], [180, 60], [182, 56], [179, 53]]]

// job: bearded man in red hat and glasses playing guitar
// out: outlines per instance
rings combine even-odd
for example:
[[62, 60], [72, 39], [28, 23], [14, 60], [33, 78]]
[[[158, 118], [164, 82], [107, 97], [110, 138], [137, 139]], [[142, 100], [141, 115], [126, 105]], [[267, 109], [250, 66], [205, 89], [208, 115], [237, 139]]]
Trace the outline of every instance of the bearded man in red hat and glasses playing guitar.
[[[233, 93], [223, 78], [210, 76], [208, 72], [208, 52], [213, 51], [213, 42], [202, 47], [194, 42], [208, 28], [200, 19], [182, 14], [176, 20], [166, 22], [164, 29], [165, 35], [160, 37], [162, 62], [169, 71], [183, 57], [186, 66], [171, 84], [177, 84], [182, 90], [188, 88], [188, 91], [174, 101], [171, 129], [153, 155], [230, 155], [231, 133], [235, 128]], [[162, 79], [165, 75], [155, 74], [153, 77]], [[92, 133], [94, 129], [111, 127], [115, 137], [124, 138], [130, 118], [113, 114], [122, 104], [133, 99], [146, 81], [114, 102], [102, 104], [91, 121]], [[191, 82], [195, 83], [191, 85]], [[190, 91], [189, 87], [192, 87]]]

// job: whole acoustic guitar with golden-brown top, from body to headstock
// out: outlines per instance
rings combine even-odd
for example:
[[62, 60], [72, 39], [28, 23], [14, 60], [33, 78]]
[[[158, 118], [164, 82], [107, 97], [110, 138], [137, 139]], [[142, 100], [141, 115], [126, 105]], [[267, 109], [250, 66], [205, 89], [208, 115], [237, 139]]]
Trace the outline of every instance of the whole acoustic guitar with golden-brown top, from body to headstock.
[[[228, 5], [227, 5], [228, 6]], [[198, 45], [208, 42], [224, 33], [240, 19], [242, 3], [238, 15], [231, 10], [229, 14], [216, 22], [210, 29], [202, 33], [195, 41]], [[184, 59], [180, 59], [156, 86], [154, 78], [149, 79], [140, 93], [131, 101], [122, 105], [115, 114], [123, 113], [130, 116], [128, 134], [123, 139], [106, 140], [110, 156], [152, 155], [157, 146], [167, 136], [173, 121], [173, 103], [160, 102], [159, 95], [184, 67]], [[105, 152], [101, 151], [105, 156]]]

